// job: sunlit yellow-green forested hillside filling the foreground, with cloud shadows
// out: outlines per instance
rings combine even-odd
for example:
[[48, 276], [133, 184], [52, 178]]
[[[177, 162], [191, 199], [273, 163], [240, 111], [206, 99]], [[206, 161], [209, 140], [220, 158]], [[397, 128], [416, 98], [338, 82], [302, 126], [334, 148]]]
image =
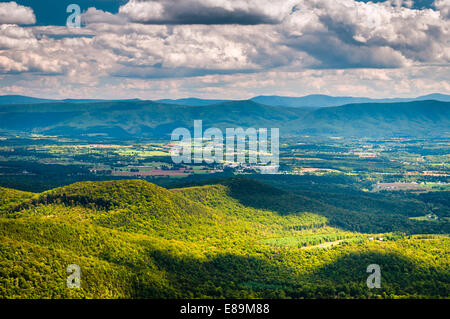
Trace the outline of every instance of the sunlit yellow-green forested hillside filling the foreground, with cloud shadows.
[[[410, 220], [407, 202], [357, 212], [245, 179], [0, 191], [2, 298], [450, 295], [449, 225]], [[66, 288], [70, 264], [81, 289]], [[369, 264], [380, 289], [366, 286]]]

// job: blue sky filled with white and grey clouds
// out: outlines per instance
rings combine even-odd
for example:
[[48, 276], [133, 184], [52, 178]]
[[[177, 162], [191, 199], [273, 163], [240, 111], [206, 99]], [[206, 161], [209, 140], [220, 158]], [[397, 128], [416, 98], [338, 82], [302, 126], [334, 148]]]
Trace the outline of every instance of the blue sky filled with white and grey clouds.
[[449, 62], [450, 0], [0, 0], [0, 95], [415, 97]]

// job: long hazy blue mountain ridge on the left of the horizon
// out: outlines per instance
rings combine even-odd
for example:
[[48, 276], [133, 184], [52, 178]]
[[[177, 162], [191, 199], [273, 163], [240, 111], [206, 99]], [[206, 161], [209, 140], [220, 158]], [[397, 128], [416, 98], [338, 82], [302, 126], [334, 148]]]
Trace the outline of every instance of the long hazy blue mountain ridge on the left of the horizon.
[[0, 107], [3, 130], [66, 136], [103, 133], [112, 137], [165, 137], [194, 120], [205, 127], [280, 127], [305, 113], [302, 109], [236, 101], [212, 106], [180, 106], [154, 102], [92, 104], [53, 103]]

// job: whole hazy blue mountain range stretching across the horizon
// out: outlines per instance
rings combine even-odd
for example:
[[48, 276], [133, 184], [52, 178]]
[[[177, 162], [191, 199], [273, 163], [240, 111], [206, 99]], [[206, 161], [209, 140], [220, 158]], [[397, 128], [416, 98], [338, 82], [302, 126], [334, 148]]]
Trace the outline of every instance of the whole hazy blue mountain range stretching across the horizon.
[[333, 107], [271, 106], [252, 100], [190, 106], [152, 101], [1, 105], [0, 132], [68, 137], [169, 139], [194, 120], [208, 127], [280, 128], [282, 137], [448, 137], [450, 102], [425, 100]]

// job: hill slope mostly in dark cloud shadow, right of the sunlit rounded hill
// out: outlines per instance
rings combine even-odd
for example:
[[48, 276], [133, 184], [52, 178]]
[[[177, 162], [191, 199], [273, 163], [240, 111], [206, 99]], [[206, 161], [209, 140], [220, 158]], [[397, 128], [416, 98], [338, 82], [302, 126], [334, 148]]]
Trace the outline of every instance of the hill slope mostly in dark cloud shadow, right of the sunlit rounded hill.
[[[209, 181], [200, 187], [177, 190], [193, 201], [219, 210], [242, 214], [261, 224], [271, 223], [264, 216], [276, 213], [270, 220], [286, 222], [287, 228], [309, 228], [311, 225], [331, 226], [346, 231], [380, 233], [447, 233], [449, 223], [424, 224], [409, 219], [425, 215], [427, 208], [414, 201], [379, 201], [364, 195], [351, 197], [342, 194], [319, 196], [308, 192], [283, 191], [266, 184], [241, 178]], [[333, 196], [340, 197], [330, 201]], [[347, 197], [348, 196], [348, 197]], [[358, 203], [358, 204], [356, 204]], [[411, 208], [412, 207], [412, 208]], [[269, 213], [268, 213], [269, 212]], [[292, 219], [293, 218], [293, 219]]]

